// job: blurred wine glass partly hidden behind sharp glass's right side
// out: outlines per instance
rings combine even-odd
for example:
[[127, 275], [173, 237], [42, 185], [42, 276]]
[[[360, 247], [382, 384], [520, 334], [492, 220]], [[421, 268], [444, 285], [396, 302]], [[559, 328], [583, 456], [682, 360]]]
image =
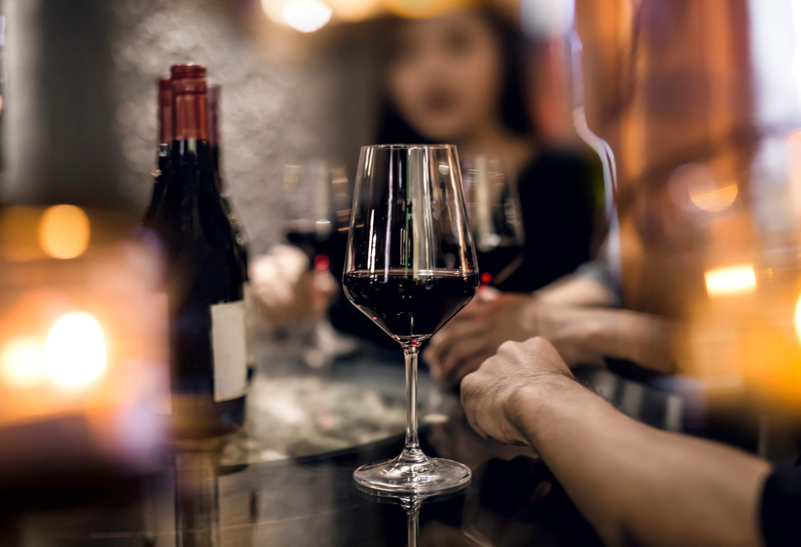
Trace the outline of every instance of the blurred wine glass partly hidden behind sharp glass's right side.
[[470, 155], [461, 166], [481, 283], [498, 287], [523, 263], [520, 200], [499, 159]]

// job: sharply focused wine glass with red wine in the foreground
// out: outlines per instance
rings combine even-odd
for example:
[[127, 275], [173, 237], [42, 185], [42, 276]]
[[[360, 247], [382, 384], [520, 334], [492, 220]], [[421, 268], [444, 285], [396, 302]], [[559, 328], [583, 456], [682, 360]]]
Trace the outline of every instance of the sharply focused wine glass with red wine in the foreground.
[[348, 300], [400, 343], [406, 361], [403, 452], [356, 469], [353, 478], [388, 492], [464, 485], [466, 465], [427, 457], [417, 440], [417, 353], [478, 287], [456, 147], [361, 149], [343, 284]]

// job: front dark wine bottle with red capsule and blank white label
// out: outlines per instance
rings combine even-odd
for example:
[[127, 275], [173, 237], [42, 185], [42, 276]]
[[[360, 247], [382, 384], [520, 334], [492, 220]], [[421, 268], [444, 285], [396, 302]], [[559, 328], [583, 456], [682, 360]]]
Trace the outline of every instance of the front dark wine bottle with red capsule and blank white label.
[[171, 67], [171, 177], [155, 225], [167, 246], [176, 436], [230, 432], [247, 384], [243, 270], [208, 142], [206, 69]]

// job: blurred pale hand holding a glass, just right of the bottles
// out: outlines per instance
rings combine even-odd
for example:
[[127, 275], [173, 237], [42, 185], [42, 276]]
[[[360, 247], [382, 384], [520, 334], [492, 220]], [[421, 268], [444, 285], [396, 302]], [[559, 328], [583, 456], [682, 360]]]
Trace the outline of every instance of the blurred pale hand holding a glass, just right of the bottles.
[[308, 331], [328, 310], [336, 280], [328, 270], [309, 270], [308, 257], [290, 245], [276, 245], [250, 268], [256, 315], [268, 331]]

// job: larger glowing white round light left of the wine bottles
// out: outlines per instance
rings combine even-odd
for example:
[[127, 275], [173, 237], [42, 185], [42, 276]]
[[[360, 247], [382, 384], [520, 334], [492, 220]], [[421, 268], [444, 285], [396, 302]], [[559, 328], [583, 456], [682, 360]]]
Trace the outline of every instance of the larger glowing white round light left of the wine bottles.
[[106, 370], [106, 340], [95, 316], [71, 312], [50, 329], [45, 345], [47, 376], [63, 388], [84, 388]]

